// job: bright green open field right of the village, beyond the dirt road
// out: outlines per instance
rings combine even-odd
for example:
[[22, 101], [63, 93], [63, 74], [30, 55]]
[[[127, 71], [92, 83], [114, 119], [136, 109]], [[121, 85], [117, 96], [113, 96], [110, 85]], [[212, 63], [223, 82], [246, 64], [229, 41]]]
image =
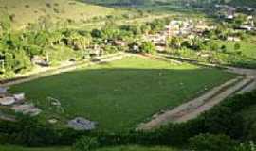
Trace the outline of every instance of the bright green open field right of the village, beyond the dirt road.
[[[248, 36], [248, 35], [247, 35]], [[215, 44], [218, 45], [218, 51], [212, 51], [210, 46], [206, 47], [206, 50], [203, 50], [202, 53], [210, 54], [209, 58], [198, 57], [198, 53], [191, 49], [181, 49], [172, 51], [171, 53], [179, 54], [178, 56], [190, 59], [196, 59], [199, 61], [210, 62], [223, 64], [228, 66], [236, 66], [240, 68], [256, 68], [256, 38], [255, 36], [248, 36], [246, 40], [241, 42], [224, 42], [224, 41], [215, 41]], [[235, 49], [235, 45], [239, 45], [239, 48]], [[225, 50], [221, 50], [221, 48]]]

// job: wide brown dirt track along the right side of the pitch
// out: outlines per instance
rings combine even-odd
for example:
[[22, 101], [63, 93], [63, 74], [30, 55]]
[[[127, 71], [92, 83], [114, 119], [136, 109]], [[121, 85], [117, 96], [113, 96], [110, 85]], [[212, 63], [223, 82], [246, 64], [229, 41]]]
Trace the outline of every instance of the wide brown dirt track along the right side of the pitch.
[[[210, 65], [211, 66], [211, 65]], [[172, 110], [162, 114], [155, 114], [152, 121], [142, 123], [137, 130], [154, 129], [170, 122], [181, 123], [196, 118], [200, 113], [211, 109], [222, 100], [235, 93], [250, 92], [256, 89], [256, 70], [224, 67], [227, 71], [241, 76], [213, 88], [210, 92], [192, 99]]]

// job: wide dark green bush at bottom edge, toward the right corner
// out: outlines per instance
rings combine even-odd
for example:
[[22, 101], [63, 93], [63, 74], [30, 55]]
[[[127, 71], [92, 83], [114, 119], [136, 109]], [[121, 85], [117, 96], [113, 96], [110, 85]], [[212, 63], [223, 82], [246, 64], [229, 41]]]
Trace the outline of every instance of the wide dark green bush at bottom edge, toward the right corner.
[[190, 139], [190, 145], [196, 151], [233, 151], [238, 143], [226, 135], [200, 134]]

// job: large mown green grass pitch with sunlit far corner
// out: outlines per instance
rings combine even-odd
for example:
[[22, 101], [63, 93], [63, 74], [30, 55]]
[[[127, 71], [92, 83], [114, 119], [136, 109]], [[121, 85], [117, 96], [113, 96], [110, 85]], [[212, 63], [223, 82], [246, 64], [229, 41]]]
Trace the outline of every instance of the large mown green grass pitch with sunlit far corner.
[[[112, 131], [135, 127], [161, 109], [173, 109], [232, 77], [217, 69], [130, 57], [47, 76], [10, 90], [25, 92], [44, 109], [45, 117], [82, 116]], [[64, 114], [50, 110], [48, 96], [62, 102]]]

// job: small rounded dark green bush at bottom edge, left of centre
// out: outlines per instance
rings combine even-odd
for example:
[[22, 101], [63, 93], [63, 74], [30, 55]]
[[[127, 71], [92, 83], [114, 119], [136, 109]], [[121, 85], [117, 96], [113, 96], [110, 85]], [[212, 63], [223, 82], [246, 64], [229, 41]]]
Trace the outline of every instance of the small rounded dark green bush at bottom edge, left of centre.
[[83, 136], [76, 143], [74, 143], [73, 148], [75, 151], [91, 151], [100, 146], [97, 138]]

